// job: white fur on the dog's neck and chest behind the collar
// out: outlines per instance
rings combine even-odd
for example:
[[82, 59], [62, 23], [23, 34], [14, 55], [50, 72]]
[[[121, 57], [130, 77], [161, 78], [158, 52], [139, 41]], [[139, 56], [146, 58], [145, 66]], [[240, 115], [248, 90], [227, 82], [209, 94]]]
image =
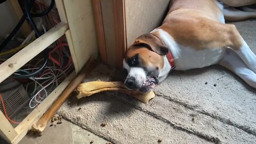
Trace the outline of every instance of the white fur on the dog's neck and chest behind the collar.
[[162, 29], [157, 29], [157, 31], [173, 55], [175, 70], [188, 70], [214, 65], [223, 58], [225, 53], [222, 49], [197, 51], [191, 47], [176, 43], [166, 31]]

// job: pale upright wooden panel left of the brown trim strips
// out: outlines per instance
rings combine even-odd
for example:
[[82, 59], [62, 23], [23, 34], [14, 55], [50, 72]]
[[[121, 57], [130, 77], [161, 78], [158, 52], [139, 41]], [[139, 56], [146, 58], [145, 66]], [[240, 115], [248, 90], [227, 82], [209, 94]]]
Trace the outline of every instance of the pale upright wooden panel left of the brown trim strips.
[[63, 0], [63, 3], [70, 29], [70, 38], [73, 42], [72, 53], [75, 55], [74, 58], [76, 58], [77, 70], [79, 71], [91, 55], [94, 58], [98, 57], [92, 2], [91, 0]]

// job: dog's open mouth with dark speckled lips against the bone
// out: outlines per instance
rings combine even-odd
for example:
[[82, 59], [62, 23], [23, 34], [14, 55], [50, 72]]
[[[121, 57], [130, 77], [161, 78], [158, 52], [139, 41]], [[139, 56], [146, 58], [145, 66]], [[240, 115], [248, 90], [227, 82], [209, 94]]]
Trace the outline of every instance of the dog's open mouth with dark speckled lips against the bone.
[[153, 89], [158, 84], [158, 78], [157, 77], [146, 77], [145, 82], [140, 87], [139, 91], [143, 93], [149, 92], [151, 89]]

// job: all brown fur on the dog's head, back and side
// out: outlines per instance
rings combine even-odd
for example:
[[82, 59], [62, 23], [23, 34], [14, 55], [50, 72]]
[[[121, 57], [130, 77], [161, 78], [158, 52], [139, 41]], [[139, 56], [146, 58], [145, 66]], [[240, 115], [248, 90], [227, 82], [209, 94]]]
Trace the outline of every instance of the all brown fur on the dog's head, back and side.
[[[169, 33], [175, 42], [196, 50], [228, 46], [234, 50], [241, 48], [242, 37], [236, 27], [219, 21], [222, 12], [215, 0], [172, 0], [170, 6], [162, 26], [157, 29]], [[141, 43], [149, 45], [152, 50], [140, 47]], [[150, 63], [154, 67], [163, 68], [163, 56], [158, 49], [163, 45], [157, 32], [142, 35], [127, 50], [126, 60], [140, 54], [142, 65], [148, 66]]]

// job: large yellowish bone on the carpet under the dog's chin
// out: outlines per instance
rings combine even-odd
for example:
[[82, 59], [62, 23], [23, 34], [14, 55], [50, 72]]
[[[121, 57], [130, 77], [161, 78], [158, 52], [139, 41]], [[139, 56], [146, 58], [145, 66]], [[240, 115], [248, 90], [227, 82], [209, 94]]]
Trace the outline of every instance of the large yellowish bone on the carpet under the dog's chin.
[[153, 91], [150, 91], [149, 93], [141, 93], [139, 91], [128, 90], [122, 82], [95, 81], [79, 84], [76, 89], [76, 92], [78, 94], [77, 99], [81, 99], [83, 97], [87, 97], [94, 93], [99, 93], [103, 91], [119, 91], [127, 95], [131, 95], [132, 97], [137, 98], [143, 103], [147, 103], [150, 99], [155, 97], [155, 93]]

